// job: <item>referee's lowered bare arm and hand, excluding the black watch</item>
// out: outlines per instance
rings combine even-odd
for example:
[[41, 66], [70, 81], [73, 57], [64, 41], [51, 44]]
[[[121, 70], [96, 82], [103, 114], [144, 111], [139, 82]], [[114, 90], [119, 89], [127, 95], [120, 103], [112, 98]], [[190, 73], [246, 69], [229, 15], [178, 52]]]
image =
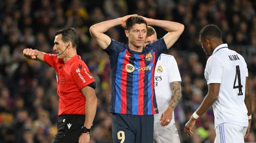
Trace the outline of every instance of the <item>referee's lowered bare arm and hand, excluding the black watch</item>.
[[[93, 124], [93, 120], [96, 114], [96, 108], [97, 108], [97, 97], [95, 95], [95, 91], [93, 88], [86, 86], [81, 89], [84, 98], [86, 99], [85, 104], [85, 122], [84, 126], [87, 129], [91, 129], [91, 126]], [[90, 141], [90, 134], [82, 133], [79, 137], [78, 143], [89, 143]]]

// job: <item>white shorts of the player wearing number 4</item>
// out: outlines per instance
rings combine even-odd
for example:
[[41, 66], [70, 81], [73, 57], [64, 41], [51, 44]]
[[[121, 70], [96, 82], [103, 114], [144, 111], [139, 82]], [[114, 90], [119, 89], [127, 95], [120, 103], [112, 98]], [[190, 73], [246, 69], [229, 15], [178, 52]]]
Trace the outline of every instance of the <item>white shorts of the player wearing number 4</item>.
[[235, 125], [232, 123], [221, 123], [216, 129], [216, 138], [214, 143], [244, 143], [244, 137], [247, 127]]

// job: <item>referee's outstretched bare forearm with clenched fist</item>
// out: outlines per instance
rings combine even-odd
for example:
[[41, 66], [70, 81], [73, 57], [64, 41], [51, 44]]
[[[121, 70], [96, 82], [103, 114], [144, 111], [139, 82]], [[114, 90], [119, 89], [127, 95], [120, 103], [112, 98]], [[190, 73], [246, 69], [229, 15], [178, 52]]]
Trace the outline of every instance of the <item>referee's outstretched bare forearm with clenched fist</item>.
[[24, 57], [26, 57], [27, 59], [33, 59], [40, 62], [44, 62], [44, 54], [44, 52], [33, 50], [31, 48], [26, 48], [23, 50]]

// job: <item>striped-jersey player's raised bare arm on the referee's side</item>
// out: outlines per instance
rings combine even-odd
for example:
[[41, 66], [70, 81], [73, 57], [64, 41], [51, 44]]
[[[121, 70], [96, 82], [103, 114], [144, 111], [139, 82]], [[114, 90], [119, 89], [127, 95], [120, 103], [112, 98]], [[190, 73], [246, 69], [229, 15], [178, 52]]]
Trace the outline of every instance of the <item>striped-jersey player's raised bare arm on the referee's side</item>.
[[127, 19], [136, 15], [137, 14], [127, 15], [121, 18], [116, 18], [114, 20], [108, 20], [108, 21], [103, 21], [101, 23], [94, 24], [93, 26], [90, 27], [90, 34], [93, 37], [93, 39], [96, 41], [96, 43], [100, 46], [100, 48], [104, 50], [111, 43], [111, 39], [109, 38], [109, 36], [104, 34], [104, 32], [106, 32], [110, 28], [117, 25], [121, 25], [123, 28], [125, 28], [126, 27], [125, 22], [127, 21]]

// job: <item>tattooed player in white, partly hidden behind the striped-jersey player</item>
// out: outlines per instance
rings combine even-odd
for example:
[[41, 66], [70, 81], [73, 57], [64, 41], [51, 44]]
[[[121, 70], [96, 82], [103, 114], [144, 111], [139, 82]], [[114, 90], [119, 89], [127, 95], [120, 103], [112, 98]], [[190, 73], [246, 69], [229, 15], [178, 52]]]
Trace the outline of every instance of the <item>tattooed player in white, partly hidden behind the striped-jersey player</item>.
[[[147, 26], [144, 46], [156, 41], [156, 31]], [[154, 89], [159, 114], [154, 114], [154, 143], [180, 143], [174, 121], [174, 109], [182, 90], [180, 72], [172, 55], [161, 54], [154, 73]]]

